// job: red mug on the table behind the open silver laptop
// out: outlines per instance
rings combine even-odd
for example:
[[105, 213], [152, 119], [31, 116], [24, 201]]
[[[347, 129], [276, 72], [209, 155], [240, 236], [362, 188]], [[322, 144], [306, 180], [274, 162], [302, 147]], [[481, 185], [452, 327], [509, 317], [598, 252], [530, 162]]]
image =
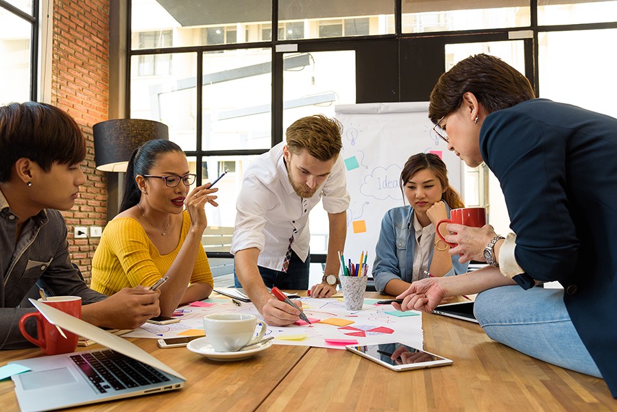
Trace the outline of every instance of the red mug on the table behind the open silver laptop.
[[[82, 317], [82, 298], [79, 296], [52, 296], [51, 298], [47, 298], [47, 300], [39, 299], [39, 302], [53, 306], [59, 311], [68, 313], [71, 316]], [[38, 339], [34, 339], [34, 337], [29, 335], [25, 330], [25, 322], [30, 317], [36, 319], [36, 334], [38, 335]], [[60, 331], [56, 328], [56, 325], [50, 324], [39, 312], [23, 315], [19, 320], [19, 331], [25, 339], [28, 339], [36, 346], [40, 346], [43, 353], [48, 355], [75, 352], [77, 341], [80, 339], [80, 337], [74, 333], [63, 329], [62, 332], [66, 335], [66, 339], [64, 339], [64, 337], [60, 335]]]

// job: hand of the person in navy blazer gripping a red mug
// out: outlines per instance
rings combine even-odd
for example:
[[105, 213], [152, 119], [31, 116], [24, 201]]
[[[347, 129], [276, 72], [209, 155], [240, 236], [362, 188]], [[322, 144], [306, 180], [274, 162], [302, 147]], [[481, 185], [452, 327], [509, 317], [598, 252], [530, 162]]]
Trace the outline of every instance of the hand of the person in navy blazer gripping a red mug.
[[446, 228], [452, 232], [446, 236], [446, 241], [457, 244], [456, 247], [450, 249], [450, 254], [459, 255], [459, 262], [485, 261], [484, 247], [496, 236], [493, 226], [484, 225], [481, 228], [472, 228], [457, 223], [449, 223]]

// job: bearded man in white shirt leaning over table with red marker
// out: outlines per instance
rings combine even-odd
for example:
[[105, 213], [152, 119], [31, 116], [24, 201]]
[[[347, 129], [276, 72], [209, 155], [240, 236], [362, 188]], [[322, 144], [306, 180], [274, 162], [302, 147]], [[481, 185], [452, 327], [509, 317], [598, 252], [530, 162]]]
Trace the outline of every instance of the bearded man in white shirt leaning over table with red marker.
[[345, 245], [349, 207], [341, 132], [341, 123], [321, 114], [298, 119], [287, 128], [287, 142], [259, 156], [244, 175], [231, 245], [236, 286], [270, 325], [299, 319], [297, 309], [266, 287], [309, 287], [309, 213], [319, 200], [328, 212], [330, 236], [324, 277], [311, 287], [311, 296], [328, 298], [337, 290], [337, 252]]

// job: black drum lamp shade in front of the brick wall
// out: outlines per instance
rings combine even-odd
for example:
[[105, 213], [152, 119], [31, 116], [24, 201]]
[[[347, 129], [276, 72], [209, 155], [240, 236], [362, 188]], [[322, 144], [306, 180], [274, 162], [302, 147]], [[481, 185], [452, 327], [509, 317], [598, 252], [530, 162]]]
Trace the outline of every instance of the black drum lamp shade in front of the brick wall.
[[169, 140], [169, 128], [154, 120], [114, 119], [95, 124], [93, 135], [97, 169], [125, 172], [134, 149], [155, 138]]

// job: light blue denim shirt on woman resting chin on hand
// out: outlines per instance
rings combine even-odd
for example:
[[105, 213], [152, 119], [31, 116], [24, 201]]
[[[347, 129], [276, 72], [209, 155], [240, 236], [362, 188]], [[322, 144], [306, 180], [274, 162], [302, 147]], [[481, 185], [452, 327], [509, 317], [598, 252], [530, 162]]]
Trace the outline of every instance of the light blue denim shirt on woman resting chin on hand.
[[[450, 206], [446, 204], [448, 217]], [[382, 292], [387, 282], [392, 279], [401, 279], [412, 282], [413, 256], [416, 241], [413, 229], [413, 208], [400, 206], [387, 211], [381, 221], [381, 231], [375, 247], [375, 263], [373, 278], [375, 288]], [[428, 254], [428, 266], [433, 260], [433, 251]], [[452, 256], [452, 269], [445, 276], [459, 275], [467, 272], [468, 263], [459, 263], [459, 256]]]

